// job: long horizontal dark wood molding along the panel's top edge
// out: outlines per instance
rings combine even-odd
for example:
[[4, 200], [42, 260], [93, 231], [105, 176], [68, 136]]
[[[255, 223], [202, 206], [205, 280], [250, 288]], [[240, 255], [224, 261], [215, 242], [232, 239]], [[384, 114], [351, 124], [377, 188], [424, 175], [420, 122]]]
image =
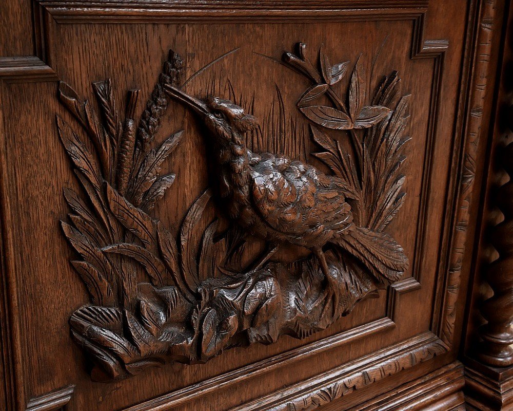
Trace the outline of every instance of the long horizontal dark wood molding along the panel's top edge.
[[166, 2], [111, 0], [75, 2], [70, 0], [35, 0], [58, 23], [172, 23], [184, 21], [260, 22], [333, 21], [340, 18], [390, 20], [424, 13], [427, 0], [344, 1], [328, 4], [319, 0], [298, 2], [168, 0]]

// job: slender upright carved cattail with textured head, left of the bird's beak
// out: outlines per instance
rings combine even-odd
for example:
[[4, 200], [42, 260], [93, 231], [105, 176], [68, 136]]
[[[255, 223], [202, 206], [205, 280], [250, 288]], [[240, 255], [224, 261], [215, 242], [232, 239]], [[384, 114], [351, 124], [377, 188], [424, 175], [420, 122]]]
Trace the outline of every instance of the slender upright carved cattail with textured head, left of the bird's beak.
[[137, 126], [135, 124], [135, 108], [140, 90], [130, 90], [127, 97], [126, 118], [123, 124], [123, 133], [121, 135], [120, 149], [117, 158], [117, 191], [125, 195], [128, 179], [130, 177], [131, 166], [133, 162], [133, 151], [135, 148], [135, 133]]

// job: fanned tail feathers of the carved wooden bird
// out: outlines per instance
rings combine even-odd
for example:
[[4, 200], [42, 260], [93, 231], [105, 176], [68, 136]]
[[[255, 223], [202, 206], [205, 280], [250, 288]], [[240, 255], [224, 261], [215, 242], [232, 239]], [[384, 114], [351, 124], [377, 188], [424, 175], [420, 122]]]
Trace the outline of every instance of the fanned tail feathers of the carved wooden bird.
[[332, 238], [331, 242], [357, 257], [380, 282], [397, 281], [408, 269], [403, 248], [385, 233], [363, 227]]

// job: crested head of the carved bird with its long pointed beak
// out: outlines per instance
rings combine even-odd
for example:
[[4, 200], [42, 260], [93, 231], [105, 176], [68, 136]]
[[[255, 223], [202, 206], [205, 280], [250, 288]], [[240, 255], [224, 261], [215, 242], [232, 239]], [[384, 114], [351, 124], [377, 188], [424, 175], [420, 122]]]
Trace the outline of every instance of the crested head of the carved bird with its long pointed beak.
[[241, 144], [241, 137], [258, 127], [258, 120], [230, 100], [219, 97], [197, 99], [185, 91], [166, 86], [167, 93], [186, 107], [195, 111], [205, 126], [219, 140]]

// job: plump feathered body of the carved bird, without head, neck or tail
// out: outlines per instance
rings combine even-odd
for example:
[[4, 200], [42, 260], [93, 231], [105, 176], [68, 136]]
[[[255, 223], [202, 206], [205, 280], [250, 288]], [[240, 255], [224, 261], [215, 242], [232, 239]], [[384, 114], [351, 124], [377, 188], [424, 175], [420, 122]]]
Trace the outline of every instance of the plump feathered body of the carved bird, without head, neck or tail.
[[283, 155], [246, 150], [225, 158], [218, 169], [220, 198], [228, 216], [251, 234], [311, 248], [353, 228], [337, 177]]

